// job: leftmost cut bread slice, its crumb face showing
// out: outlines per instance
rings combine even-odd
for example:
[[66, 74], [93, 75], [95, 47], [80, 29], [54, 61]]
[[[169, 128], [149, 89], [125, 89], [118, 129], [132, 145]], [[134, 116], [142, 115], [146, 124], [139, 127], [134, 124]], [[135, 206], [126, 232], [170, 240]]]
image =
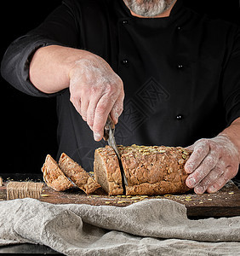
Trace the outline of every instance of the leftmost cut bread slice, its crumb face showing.
[[51, 189], [64, 191], [74, 186], [65, 174], [61, 172], [57, 162], [49, 154], [43, 164], [42, 172], [43, 180]]

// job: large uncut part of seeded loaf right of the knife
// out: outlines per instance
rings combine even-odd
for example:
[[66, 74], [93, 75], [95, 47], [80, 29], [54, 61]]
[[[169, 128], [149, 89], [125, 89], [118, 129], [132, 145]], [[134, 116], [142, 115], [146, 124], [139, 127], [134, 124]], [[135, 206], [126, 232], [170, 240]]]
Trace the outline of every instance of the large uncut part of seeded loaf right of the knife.
[[119, 146], [128, 179], [126, 195], [185, 193], [188, 174], [184, 170], [191, 151], [181, 147]]

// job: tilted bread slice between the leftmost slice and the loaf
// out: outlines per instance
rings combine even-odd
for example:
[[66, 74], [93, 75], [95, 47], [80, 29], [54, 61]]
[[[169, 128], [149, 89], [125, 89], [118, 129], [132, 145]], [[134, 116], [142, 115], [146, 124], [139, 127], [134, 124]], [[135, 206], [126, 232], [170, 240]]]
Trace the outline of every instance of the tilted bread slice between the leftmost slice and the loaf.
[[89, 173], [83, 170], [82, 166], [79, 166], [65, 153], [60, 155], [59, 166], [61, 171], [86, 194], [94, 193], [96, 189], [100, 188], [100, 184], [95, 182]]

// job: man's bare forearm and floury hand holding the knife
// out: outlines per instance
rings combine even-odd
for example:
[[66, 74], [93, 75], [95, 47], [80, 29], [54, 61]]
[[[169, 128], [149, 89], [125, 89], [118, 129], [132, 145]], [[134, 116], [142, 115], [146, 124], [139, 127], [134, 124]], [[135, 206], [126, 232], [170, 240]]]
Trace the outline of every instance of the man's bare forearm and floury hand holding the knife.
[[94, 131], [96, 141], [103, 137], [108, 114], [117, 124], [123, 112], [123, 81], [106, 61], [89, 51], [59, 45], [37, 49], [30, 79], [38, 90], [49, 94], [69, 87], [70, 100]]

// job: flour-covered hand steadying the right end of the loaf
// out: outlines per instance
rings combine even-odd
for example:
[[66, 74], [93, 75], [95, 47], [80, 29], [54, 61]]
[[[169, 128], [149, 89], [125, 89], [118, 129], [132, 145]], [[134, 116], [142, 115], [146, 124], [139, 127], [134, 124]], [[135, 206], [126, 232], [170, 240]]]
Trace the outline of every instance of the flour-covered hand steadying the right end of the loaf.
[[228, 137], [200, 139], [188, 148], [193, 153], [186, 161], [185, 170], [191, 173], [186, 185], [194, 188], [196, 194], [214, 193], [236, 176], [240, 156]]

